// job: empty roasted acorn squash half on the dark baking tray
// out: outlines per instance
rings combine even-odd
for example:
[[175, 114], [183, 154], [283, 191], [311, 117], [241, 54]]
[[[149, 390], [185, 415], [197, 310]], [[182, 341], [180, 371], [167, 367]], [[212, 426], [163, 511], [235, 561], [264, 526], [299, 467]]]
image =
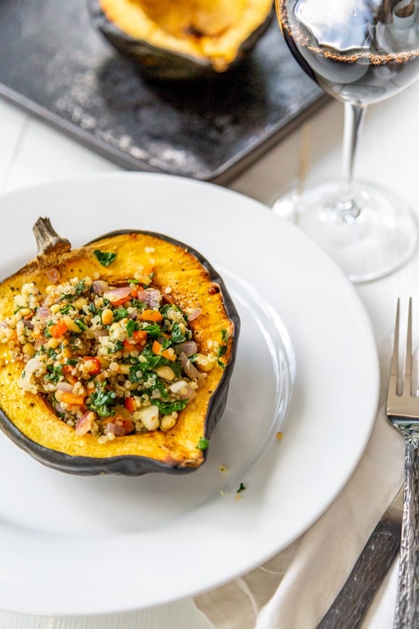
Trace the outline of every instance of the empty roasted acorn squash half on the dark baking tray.
[[272, 0], [89, 0], [93, 26], [153, 78], [224, 72], [272, 21]]

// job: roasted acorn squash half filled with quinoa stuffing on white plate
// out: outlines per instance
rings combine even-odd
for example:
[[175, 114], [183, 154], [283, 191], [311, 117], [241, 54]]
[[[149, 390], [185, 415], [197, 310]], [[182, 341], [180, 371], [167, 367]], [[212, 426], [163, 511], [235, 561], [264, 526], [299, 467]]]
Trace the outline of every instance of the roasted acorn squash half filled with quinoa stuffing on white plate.
[[233, 372], [240, 319], [198, 252], [156, 233], [78, 250], [48, 219], [0, 284], [0, 424], [80, 475], [198, 468]]

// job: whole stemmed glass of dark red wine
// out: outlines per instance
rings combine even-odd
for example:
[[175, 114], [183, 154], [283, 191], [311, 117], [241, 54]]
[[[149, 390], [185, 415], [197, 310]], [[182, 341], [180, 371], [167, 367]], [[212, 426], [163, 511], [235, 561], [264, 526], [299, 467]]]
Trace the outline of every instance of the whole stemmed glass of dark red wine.
[[[295, 59], [344, 102], [344, 173], [280, 198], [353, 282], [402, 266], [416, 247], [411, 209], [396, 194], [353, 180], [357, 140], [369, 103], [396, 94], [419, 74], [419, 0], [275, 0]], [[390, 152], [390, 147], [389, 147]], [[390, 155], [388, 158], [390, 159]]]

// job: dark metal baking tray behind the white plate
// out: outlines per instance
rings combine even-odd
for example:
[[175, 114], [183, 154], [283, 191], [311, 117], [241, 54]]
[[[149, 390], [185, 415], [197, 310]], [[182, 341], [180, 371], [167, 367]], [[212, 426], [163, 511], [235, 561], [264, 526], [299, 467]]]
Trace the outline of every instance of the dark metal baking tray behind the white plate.
[[0, 53], [9, 101], [124, 168], [221, 184], [326, 100], [276, 20], [227, 75], [150, 82], [91, 27], [86, 0], [0, 0]]

